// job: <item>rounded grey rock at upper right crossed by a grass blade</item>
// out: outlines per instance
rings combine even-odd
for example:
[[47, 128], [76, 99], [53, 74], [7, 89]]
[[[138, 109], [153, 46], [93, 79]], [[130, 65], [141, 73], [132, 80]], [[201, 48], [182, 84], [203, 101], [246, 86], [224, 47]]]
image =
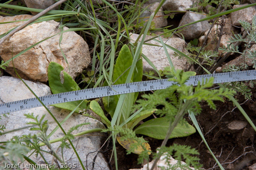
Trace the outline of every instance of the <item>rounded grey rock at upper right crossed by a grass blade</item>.
[[[183, 15], [179, 25], [180, 26], [186, 25], [194, 21], [204, 19], [205, 17], [206, 16], [202, 14], [188, 12], [185, 15]], [[181, 28], [183, 30], [180, 31], [180, 33], [183, 34], [185, 39], [192, 40], [192, 39], [198, 38], [202, 33], [210, 29], [210, 27], [211, 25], [208, 23], [208, 21], [202, 21], [200, 23], [195, 23], [195, 24]], [[181, 30], [181, 29], [178, 29], [178, 30]]]

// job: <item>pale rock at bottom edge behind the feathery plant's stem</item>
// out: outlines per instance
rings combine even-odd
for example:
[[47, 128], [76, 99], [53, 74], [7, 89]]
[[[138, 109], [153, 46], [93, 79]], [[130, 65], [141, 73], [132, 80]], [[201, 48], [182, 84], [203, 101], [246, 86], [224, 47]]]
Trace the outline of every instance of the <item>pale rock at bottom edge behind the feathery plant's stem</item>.
[[[168, 164], [166, 163], [166, 157], [168, 157]], [[148, 170], [148, 169], [151, 169], [153, 163], [154, 163], [155, 160], [153, 160], [152, 162], [146, 164], [143, 166], [143, 168], [141, 169], [130, 169], [130, 170]], [[154, 168], [154, 170], [162, 170], [162, 169], [169, 169], [170, 167], [172, 166], [176, 166], [176, 164], [178, 163], [178, 160], [176, 159], [173, 159], [172, 156], [170, 156], [169, 153], [164, 153], [161, 158], [159, 159], [159, 161], [157, 162], [157, 166]], [[188, 170], [186, 168], [186, 163], [185, 162], [182, 162], [181, 161], [181, 165], [184, 165], [182, 167], [182, 170]], [[193, 167], [189, 167], [190, 169], [194, 170]]]

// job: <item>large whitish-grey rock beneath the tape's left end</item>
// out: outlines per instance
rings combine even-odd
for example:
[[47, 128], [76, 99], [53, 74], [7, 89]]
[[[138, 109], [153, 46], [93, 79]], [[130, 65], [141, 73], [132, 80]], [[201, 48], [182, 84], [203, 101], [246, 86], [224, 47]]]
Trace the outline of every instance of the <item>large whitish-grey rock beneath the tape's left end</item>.
[[[42, 83], [33, 83], [30, 81], [25, 80], [25, 82], [29, 85], [29, 87], [37, 94], [38, 96], [42, 95], [49, 95], [50, 94], [50, 88], [46, 86], [45, 84]], [[3, 76], [0, 78], [0, 103], [3, 102], [10, 102], [14, 100], [21, 100], [21, 99], [26, 99], [26, 98], [33, 98], [33, 94], [27, 89], [27, 87], [21, 82], [21, 80], [17, 78], [12, 78], [12, 77], [7, 77]], [[70, 111], [63, 110], [57, 107], [53, 106], [47, 106], [49, 110], [52, 112], [54, 117], [61, 122], [68, 114]], [[10, 131], [14, 129], [19, 129], [22, 127], [28, 126], [26, 123], [33, 121], [32, 119], [27, 119], [24, 114], [28, 113], [34, 113], [34, 115], [38, 115], [38, 119], [41, 118], [42, 115], [46, 115], [44, 120], [48, 120], [49, 128], [47, 131], [47, 135], [57, 126], [57, 124], [54, 122], [53, 118], [50, 116], [50, 114], [45, 110], [44, 107], [37, 107], [37, 108], [31, 108], [28, 110], [22, 110], [22, 111], [17, 111], [17, 112], [11, 112], [10, 114], [7, 115], [7, 117], [2, 117], [0, 121], [0, 125], [5, 125], [6, 130], [5, 131]], [[67, 132], [71, 127], [81, 124], [81, 123], [90, 123], [88, 125], [84, 125], [80, 127], [78, 130], [73, 131], [74, 134], [79, 133], [81, 131], [86, 131], [90, 129], [95, 129], [95, 128], [104, 128], [103, 124], [99, 122], [98, 120], [88, 118], [86, 116], [82, 116], [80, 114], [73, 114], [71, 115], [68, 120], [62, 125], [63, 129]], [[30, 131], [29, 128], [18, 130], [18, 131], [13, 131], [11, 133], [7, 133], [3, 136], [1, 136], [0, 141], [7, 141], [10, 140], [13, 136], [15, 135], [27, 135], [27, 134], [37, 134], [38, 131]], [[50, 138], [49, 140], [52, 139], [57, 139], [63, 137], [63, 132], [58, 129]], [[86, 159], [88, 163], [88, 169], [92, 169], [92, 165], [94, 162], [94, 157], [97, 154], [97, 150], [100, 149], [101, 147], [101, 140], [102, 140], [102, 134], [100, 133], [93, 133], [93, 134], [87, 134], [87, 136], [83, 137], [77, 137], [74, 140], [72, 140], [73, 145], [76, 148], [76, 151], [79, 154], [79, 157], [81, 158], [83, 165], [86, 166]], [[61, 158], [61, 149], [58, 148], [60, 146], [60, 142], [52, 143], [51, 147], [52, 150], [54, 150], [59, 157]], [[50, 151], [48, 147], [42, 146], [42, 150]], [[95, 153], [91, 153], [94, 152]], [[46, 154], [42, 152], [44, 155], [46, 161], [50, 164], [53, 162], [53, 157], [50, 154]], [[88, 157], [86, 157], [88, 155]], [[71, 163], [75, 164], [76, 163], [76, 168], [77, 169], [82, 169], [76, 154], [74, 153], [73, 149], [64, 149], [63, 150], [63, 157], [64, 161], [66, 163]], [[32, 159], [35, 163], [37, 164], [44, 164], [44, 160], [42, 157], [39, 155], [38, 157], [33, 154], [30, 159]], [[25, 162], [26, 164], [26, 162]], [[108, 170], [108, 163], [106, 163], [105, 158], [103, 157], [102, 153], [99, 153], [98, 156], [95, 159], [95, 165], [94, 165], [95, 170]]]

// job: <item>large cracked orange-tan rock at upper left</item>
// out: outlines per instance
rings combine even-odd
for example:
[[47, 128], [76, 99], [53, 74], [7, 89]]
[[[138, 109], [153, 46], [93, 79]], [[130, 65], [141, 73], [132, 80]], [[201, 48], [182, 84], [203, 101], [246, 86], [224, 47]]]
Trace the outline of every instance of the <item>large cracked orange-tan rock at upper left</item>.
[[[0, 22], [30, 19], [31, 17], [30, 15], [3, 17], [0, 18]], [[1, 24], [0, 34], [5, 33], [21, 23], [22, 22]], [[56, 62], [61, 64], [64, 67], [64, 71], [74, 79], [90, 63], [89, 48], [83, 38], [74, 31], [63, 33], [63, 39], [59, 46], [60, 34], [56, 35], [60, 32], [60, 30], [56, 29], [56, 25], [58, 24], [59, 23], [53, 20], [44, 21], [31, 24], [16, 32], [10, 39], [4, 41], [0, 47], [1, 58], [7, 61], [11, 59], [12, 56], [15, 56], [33, 44], [53, 36], [14, 59], [14, 66], [22, 78], [46, 82], [48, 80], [49, 62]], [[64, 27], [64, 30], [67, 29], [67, 27]], [[70, 72], [60, 47], [67, 58]], [[16, 76], [12, 62], [10, 62], [6, 71], [12, 76]]]

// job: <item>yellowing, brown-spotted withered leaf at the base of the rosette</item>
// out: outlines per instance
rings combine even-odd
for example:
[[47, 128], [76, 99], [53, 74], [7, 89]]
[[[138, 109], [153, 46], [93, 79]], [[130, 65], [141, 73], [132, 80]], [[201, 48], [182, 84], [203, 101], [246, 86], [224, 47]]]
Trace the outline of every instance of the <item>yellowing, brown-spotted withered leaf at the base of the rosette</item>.
[[[137, 141], [135, 141], [135, 140], [133, 140], [133, 139], [125, 139], [124, 141], [121, 141], [121, 138], [120, 137], [116, 137], [116, 139], [117, 139], [117, 141], [118, 141], [118, 143], [120, 143], [120, 145], [122, 145], [125, 149], [127, 149], [127, 150], [129, 150], [129, 151], [131, 151], [132, 153], [135, 153], [135, 154], [140, 154], [140, 153], [142, 153], [142, 151], [143, 151], [143, 148], [142, 148], [142, 146], [139, 146], [136, 150], [130, 150], [130, 147], [131, 147], [131, 144], [133, 144], [133, 143], [138, 143]], [[148, 155], [150, 155], [151, 153], [150, 153], [150, 151], [151, 151], [151, 149], [150, 149], [150, 146], [149, 146], [149, 144], [148, 143], [143, 143], [143, 145], [144, 145], [144, 147], [148, 150]]]

